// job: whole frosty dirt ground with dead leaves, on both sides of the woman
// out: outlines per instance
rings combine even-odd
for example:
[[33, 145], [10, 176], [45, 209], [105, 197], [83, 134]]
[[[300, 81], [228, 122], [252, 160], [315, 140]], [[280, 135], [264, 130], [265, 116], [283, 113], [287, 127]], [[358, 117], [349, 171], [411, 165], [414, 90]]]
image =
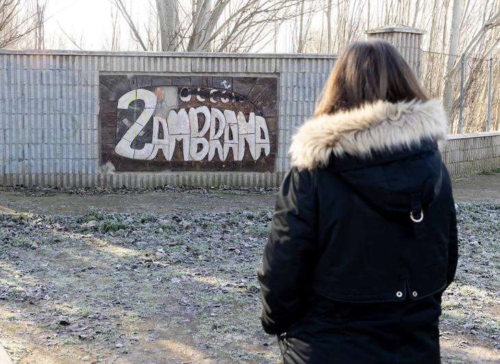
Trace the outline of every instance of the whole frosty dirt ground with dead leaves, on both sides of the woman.
[[[499, 183], [454, 182], [445, 363], [500, 362]], [[275, 363], [256, 277], [274, 202], [275, 191], [1, 191], [1, 343], [14, 363]]]

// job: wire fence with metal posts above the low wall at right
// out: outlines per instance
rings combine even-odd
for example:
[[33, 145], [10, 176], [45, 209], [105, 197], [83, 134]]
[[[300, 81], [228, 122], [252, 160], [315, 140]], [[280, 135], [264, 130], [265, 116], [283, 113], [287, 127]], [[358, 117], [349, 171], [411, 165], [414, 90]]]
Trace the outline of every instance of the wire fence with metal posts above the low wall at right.
[[[454, 67], [447, 75], [449, 57]], [[423, 51], [422, 82], [443, 99], [452, 134], [500, 130], [500, 60]]]

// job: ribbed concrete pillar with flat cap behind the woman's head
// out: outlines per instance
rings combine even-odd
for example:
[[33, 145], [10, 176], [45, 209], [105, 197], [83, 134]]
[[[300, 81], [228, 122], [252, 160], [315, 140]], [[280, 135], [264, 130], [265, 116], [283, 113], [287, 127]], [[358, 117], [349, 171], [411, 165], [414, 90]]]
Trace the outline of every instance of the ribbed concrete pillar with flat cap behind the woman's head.
[[382, 38], [392, 43], [405, 58], [406, 62], [413, 69], [420, 79], [422, 63], [422, 36], [427, 33], [423, 29], [407, 27], [406, 25], [386, 25], [368, 29], [367, 38]]

